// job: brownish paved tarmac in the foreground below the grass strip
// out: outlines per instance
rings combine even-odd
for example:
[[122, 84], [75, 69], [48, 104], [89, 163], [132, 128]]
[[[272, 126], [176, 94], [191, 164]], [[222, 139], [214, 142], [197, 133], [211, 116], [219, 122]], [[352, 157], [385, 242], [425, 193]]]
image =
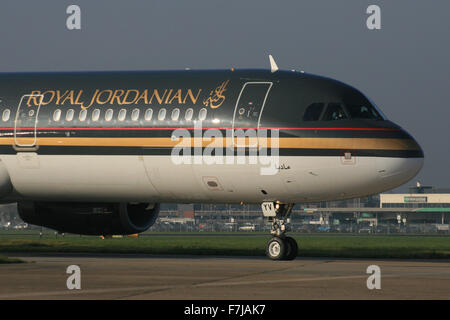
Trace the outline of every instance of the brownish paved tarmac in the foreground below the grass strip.
[[[0, 265], [5, 299], [450, 299], [450, 261], [39, 255]], [[67, 289], [69, 265], [81, 289]], [[367, 267], [381, 270], [368, 289]]]

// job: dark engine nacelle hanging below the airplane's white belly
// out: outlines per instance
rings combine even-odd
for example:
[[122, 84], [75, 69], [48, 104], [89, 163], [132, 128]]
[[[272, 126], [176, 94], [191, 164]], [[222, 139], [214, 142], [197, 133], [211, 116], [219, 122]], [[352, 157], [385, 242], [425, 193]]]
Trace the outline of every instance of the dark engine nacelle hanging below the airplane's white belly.
[[28, 224], [85, 235], [126, 235], [146, 231], [158, 218], [159, 203], [19, 202]]

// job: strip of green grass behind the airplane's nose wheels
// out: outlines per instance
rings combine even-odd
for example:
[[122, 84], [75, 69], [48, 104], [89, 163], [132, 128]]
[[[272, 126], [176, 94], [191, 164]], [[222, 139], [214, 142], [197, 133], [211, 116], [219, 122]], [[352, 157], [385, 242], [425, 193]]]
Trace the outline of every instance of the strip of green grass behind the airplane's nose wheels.
[[[450, 259], [450, 236], [292, 234], [301, 257]], [[270, 236], [237, 234], [146, 234], [139, 238], [66, 235], [0, 237], [0, 252], [144, 253], [264, 256]]]

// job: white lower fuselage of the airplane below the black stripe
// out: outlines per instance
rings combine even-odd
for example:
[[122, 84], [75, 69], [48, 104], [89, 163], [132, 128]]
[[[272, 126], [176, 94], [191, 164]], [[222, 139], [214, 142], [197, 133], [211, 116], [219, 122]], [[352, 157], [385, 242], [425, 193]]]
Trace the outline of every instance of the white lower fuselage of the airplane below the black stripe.
[[[287, 203], [361, 197], [416, 175], [423, 158], [280, 156], [274, 164], [175, 164], [171, 156], [1, 155], [10, 200]], [[262, 168], [279, 168], [261, 174]]]

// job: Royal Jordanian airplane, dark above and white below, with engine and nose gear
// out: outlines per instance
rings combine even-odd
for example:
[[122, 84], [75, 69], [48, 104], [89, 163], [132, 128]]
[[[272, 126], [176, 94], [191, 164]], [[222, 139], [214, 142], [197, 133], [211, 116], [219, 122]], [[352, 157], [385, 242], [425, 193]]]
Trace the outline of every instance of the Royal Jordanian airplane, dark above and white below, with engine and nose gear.
[[146, 231], [160, 203], [261, 204], [293, 260], [296, 203], [377, 194], [424, 153], [363, 93], [270, 69], [0, 73], [0, 201], [28, 224]]

